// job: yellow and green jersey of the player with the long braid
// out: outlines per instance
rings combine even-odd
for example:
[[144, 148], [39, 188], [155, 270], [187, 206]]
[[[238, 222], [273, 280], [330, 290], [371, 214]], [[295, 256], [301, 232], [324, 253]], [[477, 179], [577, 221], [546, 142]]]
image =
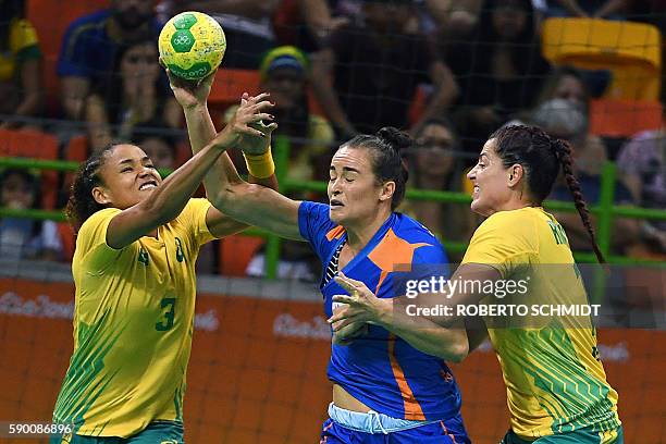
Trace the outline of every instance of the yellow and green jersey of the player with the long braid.
[[[513, 301], [526, 305], [530, 313], [535, 304], [588, 304], [566, 234], [542, 208], [488, 218], [474, 232], [462, 263], [489, 264], [505, 281], [526, 276], [529, 269], [527, 292]], [[599, 432], [619, 427], [617, 392], [606, 382], [590, 318], [576, 324], [563, 323], [564, 318], [541, 319], [536, 324], [526, 318], [513, 328], [485, 319], [507, 387], [514, 432], [530, 439], [583, 427]]]

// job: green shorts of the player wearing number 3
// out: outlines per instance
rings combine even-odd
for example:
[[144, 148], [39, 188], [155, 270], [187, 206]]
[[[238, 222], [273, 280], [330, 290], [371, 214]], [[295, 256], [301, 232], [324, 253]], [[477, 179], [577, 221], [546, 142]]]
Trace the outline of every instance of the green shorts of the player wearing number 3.
[[183, 423], [153, 421], [130, 437], [118, 436], [51, 436], [50, 444], [184, 444]]

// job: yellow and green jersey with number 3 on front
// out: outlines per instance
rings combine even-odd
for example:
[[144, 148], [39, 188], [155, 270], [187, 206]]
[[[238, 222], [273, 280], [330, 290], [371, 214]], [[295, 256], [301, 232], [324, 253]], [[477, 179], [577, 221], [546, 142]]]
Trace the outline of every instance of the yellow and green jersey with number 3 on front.
[[118, 209], [81, 227], [74, 353], [53, 412], [75, 433], [126, 437], [155, 420], [182, 421], [195, 313], [195, 261], [213, 239], [206, 199], [123, 249], [107, 245]]

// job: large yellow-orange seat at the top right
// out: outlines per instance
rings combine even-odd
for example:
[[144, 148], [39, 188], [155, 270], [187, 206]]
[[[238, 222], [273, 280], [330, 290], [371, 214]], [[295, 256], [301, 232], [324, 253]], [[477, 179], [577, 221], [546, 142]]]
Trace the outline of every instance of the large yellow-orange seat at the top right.
[[554, 64], [609, 70], [605, 98], [657, 100], [662, 72], [662, 35], [655, 26], [599, 18], [548, 18], [542, 52]]

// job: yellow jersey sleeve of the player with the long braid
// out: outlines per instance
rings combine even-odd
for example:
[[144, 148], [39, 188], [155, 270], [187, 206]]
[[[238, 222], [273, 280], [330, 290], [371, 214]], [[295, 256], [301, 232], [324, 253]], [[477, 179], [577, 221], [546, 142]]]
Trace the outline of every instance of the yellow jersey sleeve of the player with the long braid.
[[497, 270], [503, 279], [518, 264], [536, 255], [538, 238], [533, 222], [510, 212], [488, 218], [474, 232], [461, 263], [482, 263]]

